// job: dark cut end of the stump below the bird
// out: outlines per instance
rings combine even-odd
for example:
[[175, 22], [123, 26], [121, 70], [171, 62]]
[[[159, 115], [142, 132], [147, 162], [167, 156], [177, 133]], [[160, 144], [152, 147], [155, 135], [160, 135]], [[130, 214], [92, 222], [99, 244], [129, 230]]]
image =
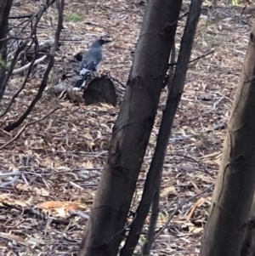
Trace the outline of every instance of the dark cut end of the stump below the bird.
[[85, 100], [86, 105], [105, 102], [116, 106], [116, 88], [109, 77], [95, 77], [88, 83], [88, 88], [84, 90], [83, 99]]

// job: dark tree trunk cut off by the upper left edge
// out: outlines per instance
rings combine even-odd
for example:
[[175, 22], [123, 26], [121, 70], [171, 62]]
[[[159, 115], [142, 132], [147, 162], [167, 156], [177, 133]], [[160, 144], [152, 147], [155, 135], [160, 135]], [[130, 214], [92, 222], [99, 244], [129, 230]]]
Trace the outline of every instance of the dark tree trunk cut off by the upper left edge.
[[7, 40], [2, 39], [6, 38], [8, 32], [8, 14], [12, 4], [13, 0], [0, 1], [0, 100], [3, 99], [5, 91], [3, 81], [5, 78], [5, 72], [7, 71]]

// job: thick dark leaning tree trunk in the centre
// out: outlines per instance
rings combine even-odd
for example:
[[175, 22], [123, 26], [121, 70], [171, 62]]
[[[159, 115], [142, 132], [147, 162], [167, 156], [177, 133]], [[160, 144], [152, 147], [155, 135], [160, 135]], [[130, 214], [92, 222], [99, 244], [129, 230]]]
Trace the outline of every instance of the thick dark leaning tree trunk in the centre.
[[79, 256], [115, 256], [166, 77], [181, 1], [149, 0]]

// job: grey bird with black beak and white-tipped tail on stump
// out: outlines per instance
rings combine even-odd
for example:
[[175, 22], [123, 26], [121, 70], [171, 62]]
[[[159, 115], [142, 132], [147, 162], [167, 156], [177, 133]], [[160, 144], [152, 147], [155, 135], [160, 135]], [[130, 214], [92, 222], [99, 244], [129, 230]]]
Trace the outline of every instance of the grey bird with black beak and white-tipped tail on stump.
[[103, 45], [111, 42], [106, 39], [96, 39], [89, 48], [88, 52], [82, 57], [82, 65], [80, 67], [80, 76], [73, 90], [80, 90], [86, 84], [86, 80], [91, 73], [98, 73], [101, 61], [103, 59]]

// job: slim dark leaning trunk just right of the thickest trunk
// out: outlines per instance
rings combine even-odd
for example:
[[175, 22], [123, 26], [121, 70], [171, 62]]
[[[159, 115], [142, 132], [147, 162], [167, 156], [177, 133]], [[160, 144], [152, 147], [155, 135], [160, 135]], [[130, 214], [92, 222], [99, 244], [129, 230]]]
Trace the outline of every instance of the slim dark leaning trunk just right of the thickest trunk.
[[[142, 232], [144, 220], [149, 213], [156, 186], [159, 190], [161, 187], [163, 162], [173, 126], [173, 119], [184, 90], [186, 73], [188, 71], [190, 54], [195, 37], [195, 29], [201, 13], [201, 1], [202, 0], [192, 0], [190, 4], [190, 14], [184, 29], [184, 36], [178, 53], [175, 73], [173, 78], [169, 80], [172, 86], [168, 93], [166, 108], [162, 115], [161, 127], [156, 140], [156, 150], [150, 163], [150, 169], [144, 184], [143, 196], [139, 203], [139, 208], [136, 211], [136, 218], [133, 220], [130, 227], [127, 241], [122, 248], [121, 256], [133, 255], [133, 248], [136, 246]], [[151, 239], [149, 239], [148, 242], [151, 242]]]

